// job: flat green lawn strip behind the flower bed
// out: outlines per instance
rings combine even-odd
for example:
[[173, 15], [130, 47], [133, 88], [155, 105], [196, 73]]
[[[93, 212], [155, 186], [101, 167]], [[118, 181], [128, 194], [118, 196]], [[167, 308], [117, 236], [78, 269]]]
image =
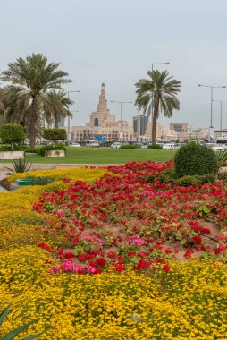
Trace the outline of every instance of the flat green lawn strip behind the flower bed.
[[28, 156], [28, 160], [34, 164], [123, 164], [138, 160], [164, 162], [174, 154], [172, 150], [67, 148], [66, 157]]

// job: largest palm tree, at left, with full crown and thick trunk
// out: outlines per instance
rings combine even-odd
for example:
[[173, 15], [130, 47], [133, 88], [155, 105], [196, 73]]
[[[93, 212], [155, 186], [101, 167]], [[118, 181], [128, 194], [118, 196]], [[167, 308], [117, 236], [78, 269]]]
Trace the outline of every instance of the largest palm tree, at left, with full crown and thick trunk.
[[2, 81], [11, 83], [8, 98], [12, 95], [17, 107], [24, 108], [22, 115], [28, 115], [26, 111], [29, 110], [30, 149], [35, 149], [36, 145], [36, 123], [42, 113], [41, 102], [48, 96], [49, 90], [61, 89], [62, 84], [71, 82], [66, 78], [68, 73], [57, 70], [58, 66], [56, 63], [47, 64], [46, 57], [41, 54], [32, 54], [8, 64], [8, 70], [2, 72]]

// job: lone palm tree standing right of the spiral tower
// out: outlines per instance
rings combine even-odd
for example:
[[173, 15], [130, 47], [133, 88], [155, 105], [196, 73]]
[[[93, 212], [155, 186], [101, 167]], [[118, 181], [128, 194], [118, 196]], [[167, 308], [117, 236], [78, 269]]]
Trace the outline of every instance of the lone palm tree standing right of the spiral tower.
[[180, 109], [179, 99], [176, 94], [180, 92], [181, 81], [176, 81], [169, 76], [167, 71], [148, 71], [150, 79], [141, 79], [135, 86], [137, 98], [135, 105], [143, 114], [152, 115], [152, 144], [156, 144], [156, 122], [159, 112], [163, 111], [164, 116], [172, 117], [172, 110]]

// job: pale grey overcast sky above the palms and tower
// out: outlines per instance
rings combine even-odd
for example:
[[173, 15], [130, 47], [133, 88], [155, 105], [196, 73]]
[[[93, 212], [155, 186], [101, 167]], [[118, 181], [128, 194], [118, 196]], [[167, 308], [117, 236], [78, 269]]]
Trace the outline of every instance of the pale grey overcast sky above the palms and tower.
[[[211, 89], [227, 86], [226, 0], [0, 0], [0, 72], [17, 58], [41, 53], [60, 63], [72, 80], [65, 85], [74, 105], [72, 125], [84, 125], [97, 108], [101, 83], [111, 113], [132, 124], [135, 83], [147, 71], [167, 70], [181, 81], [180, 111], [159, 122], [208, 128]], [[170, 63], [164, 65], [162, 63]], [[227, 88], [214, 88], [227, 128]], [[76, 112], [78, 111], [78, 112]], [[213, 102], [220, 129], [220, 102]]]

